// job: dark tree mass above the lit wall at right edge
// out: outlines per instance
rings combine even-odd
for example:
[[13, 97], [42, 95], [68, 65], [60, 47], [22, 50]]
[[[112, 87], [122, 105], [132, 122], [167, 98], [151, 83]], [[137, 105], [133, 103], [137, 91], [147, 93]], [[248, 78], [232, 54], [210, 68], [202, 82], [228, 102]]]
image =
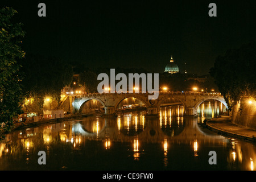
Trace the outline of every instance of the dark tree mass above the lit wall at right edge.
[[218, 56], [210, 75], [223, 94], [229, 110], [242, 97], [255, 100], [256, 42], [230, 49], [224, 56]]

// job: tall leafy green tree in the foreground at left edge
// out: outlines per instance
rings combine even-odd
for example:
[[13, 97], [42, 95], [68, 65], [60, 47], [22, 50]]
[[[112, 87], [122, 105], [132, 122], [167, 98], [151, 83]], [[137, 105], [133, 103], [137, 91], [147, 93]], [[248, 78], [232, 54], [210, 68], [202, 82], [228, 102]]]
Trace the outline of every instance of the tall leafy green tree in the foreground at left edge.
[[25, 32], [21, 23], [11, 22], [16, 13], [9, 7], [0, 10], [0, 133], [10, 131], [24, 99], [18, 60], [25, 55], [20, 47]]

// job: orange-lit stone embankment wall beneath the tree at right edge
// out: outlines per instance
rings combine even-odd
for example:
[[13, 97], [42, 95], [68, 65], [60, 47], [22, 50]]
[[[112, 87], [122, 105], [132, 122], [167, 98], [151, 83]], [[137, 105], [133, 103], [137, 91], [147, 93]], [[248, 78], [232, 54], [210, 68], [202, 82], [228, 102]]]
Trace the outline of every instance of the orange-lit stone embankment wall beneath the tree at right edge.
[[246, 100], [243, 101], [243, 108], [240, 113], [240, 102], [232, 110], [232, 122], [256, 130], [256, 101], [251, 104]]

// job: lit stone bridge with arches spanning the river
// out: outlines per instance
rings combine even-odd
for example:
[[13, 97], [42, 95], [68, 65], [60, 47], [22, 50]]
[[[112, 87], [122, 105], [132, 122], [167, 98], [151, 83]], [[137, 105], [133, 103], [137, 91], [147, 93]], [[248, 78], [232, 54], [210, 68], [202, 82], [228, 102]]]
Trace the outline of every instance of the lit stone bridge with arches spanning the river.
[[[159, 97], [156, 100], [148, 100], [149, 93], [94, 93], [84, 95], [72, 95], [65, 99], [69, 103], [69, 111], [71, 113], [79, 113], [82, 106], [89, 100], [97, 100], [105, 108], [105, 114], [115, 114], [118, 110], [118, 105], [125, 98], [136, 98], [141, 101], [146, 107], [148, 115], [158, 115], [160, 106], [164, 101], [170, 98], [175, 99], [175, 104], [183, 104], [185, 115], [197, 114], [197, 107], [206, 100], [217, 100], [222, 102], [228, 108], [224, 97], [220, 93], [201, 93], [201, 92], [159, 92]], [[63, 101], [64, 102], [64, 101]]]

